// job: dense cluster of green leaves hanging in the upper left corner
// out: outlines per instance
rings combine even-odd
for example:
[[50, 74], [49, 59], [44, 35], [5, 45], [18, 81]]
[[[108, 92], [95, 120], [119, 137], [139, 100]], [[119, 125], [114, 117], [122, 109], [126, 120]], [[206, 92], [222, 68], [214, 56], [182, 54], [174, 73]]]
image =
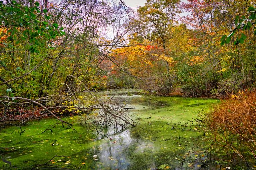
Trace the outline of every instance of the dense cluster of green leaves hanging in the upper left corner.
[[3, 3], [0, 1], [0, 20], [7, 30], [8, 44], [29, 44], [26, 50], [39, 53], [40, 47], [48, 47], [50, 39], [65, 35], [57, 23], [48, 23], [50, 16], [47, 10], [40, 10], [40, 4], [35, 2], [34, 7], [24, 6], [21, 3]]

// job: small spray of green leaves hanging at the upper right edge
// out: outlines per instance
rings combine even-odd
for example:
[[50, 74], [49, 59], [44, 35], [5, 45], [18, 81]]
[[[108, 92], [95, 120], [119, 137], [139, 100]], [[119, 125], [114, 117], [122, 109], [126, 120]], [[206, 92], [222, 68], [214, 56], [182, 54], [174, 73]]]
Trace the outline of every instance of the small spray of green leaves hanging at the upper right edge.
[[[242, 15], [241, 17], [236, 16], [235, 18], [235, 28], [231, 31], [231, 33], [227, 36], [224, 35], [220, 39], [220, 45], [229, 44], [231, 37], [234, 36], [234, 34], [237, 32], [237, 30], [250, 30], [250, 28], [255, 24], [256, 22], [256, 8], [249, 7], [247, 10], [247, 16]], [[254, 30], [254, 35], [256, 35], [256, 30]], [[246, 35], [244, 33], [241, 33], [239, 36], [236, 37], [236, 40], [234, 41], [234, 45], [243, 44], [244, 40], [246, 39]]]

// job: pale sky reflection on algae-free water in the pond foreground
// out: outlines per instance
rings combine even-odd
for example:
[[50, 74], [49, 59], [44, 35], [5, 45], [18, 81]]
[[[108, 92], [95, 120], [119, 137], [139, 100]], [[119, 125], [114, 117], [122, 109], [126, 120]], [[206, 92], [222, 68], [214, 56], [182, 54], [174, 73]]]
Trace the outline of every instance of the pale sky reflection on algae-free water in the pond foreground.
[[[133, 148], [135, 152], [144, 152], [145, 149], [153, 149], [151, 142], [145, 142], [141, 139], [132, 138], [130, 130], [126, 129], [115, 134], [109, 133], [104, 144], [98, 148], [97, 156], [99, 158], [98, 169], [128, 169], [131, 165], [129, 155]], [[134, 151], [133, 151], [134, 152]]]

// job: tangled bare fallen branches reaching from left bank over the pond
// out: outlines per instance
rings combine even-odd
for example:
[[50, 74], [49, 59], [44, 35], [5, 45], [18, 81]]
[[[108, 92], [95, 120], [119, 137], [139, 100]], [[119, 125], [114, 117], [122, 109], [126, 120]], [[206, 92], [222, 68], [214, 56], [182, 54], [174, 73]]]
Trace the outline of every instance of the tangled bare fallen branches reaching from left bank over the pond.
[[84, 119], [83, 123], [96, 127], [113, 125], [114, 128], [124, 129], [134, 126], [132, 119], [126, 114], [125, 105], [112, 102], [113, 96], [95, 96], [87, 87], [87, 94], [81, 94], [80, 91], [81, 95], [72, 93], [69, 87], [68, 89], [69, 92], [34, 100], [0, 96], [0, 125], [12, 122], [23, 125], [28, 120], [50, 115], [60, 121], [63, 127], [64, 124], [71, 127], [72, 123], [62, 120], [59, 116], [76, 115]]

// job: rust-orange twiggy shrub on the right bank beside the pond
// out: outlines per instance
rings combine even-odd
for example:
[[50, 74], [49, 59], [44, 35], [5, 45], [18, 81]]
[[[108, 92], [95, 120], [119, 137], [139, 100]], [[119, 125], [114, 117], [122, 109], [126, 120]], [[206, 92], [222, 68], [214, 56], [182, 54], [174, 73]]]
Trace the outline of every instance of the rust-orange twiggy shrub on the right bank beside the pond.
[[239, 155], [245, 146], [256, 159], [256, 91], [245, 91], [230, 95], [214, 107], [206, 120], [214, 135], [214, 140]]

